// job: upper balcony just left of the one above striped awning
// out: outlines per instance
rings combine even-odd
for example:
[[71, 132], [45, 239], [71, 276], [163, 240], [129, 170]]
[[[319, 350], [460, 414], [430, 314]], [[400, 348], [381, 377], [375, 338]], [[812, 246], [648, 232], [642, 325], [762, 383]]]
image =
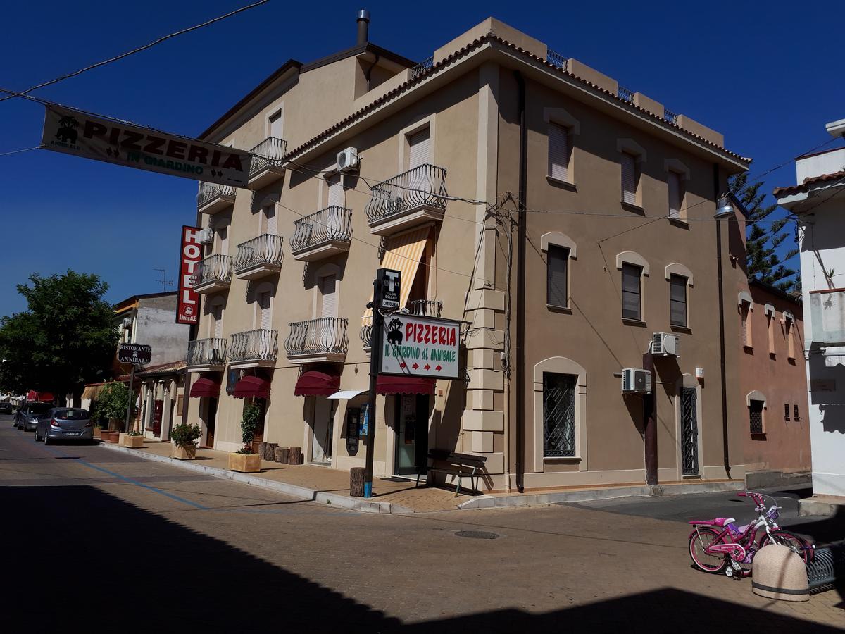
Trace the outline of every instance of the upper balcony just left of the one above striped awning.
[[314, 262], [346, 253], [352, 243], [352, 210], [331, 206], [293, 223], [291, 250], [296, 260]]

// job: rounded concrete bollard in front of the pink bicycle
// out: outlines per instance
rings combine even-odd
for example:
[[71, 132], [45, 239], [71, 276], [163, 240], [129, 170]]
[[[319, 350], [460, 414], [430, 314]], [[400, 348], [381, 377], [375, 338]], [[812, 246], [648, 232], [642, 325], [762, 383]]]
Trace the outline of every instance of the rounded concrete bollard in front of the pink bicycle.
[[809, 601], [810, 585], [804, 560], [781, 544], [763, 546], [754, 555], [751, 591], [782, 601]]

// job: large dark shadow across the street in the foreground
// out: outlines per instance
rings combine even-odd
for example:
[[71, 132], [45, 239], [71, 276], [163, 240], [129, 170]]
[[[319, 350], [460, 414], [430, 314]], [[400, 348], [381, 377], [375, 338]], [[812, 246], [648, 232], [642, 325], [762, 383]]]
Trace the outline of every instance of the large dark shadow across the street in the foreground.
[[[0, 505], [4, 631], [840, 631], [672, 588], [542, 614], [502, 609], [402, 624], [101, 489], [0, 487]], [[350, 544], [339, 536], [334, 547], [342, 566]], [[407, 571], [409, 593], [415, 574]], [[537, 579], [537, 593], [542, 586]], [[482, 579], [466, 585], [467, 613], [472, 594], [486, 592]]]

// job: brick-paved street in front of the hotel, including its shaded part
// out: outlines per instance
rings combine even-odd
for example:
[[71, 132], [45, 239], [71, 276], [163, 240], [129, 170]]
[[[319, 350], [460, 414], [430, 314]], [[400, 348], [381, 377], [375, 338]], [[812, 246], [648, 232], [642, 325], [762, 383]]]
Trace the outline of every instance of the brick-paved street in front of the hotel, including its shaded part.
[[837, 592], [773, 602], [748, 581], [692, 570], [677, 518], [586, 506], [343, 511], [94, 445], [45, 447], [5, 416], [0, 504], [4, 630], [845, 627]]

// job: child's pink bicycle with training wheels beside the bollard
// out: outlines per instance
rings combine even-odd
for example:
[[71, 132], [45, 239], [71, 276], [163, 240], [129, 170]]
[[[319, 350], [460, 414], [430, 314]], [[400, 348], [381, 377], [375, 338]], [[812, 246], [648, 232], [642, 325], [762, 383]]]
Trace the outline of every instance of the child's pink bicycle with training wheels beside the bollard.
[[[690, 558], [696, 568], [714, 574], [724, 571], [728, 577], [748, 577], [755, 553], [766, 544], [782, 544], [799, 555], [804, 563], [812, 558], [813, 546], [804, 539], [783, 530], [777, 525], [777, 503], [766, 511], [763, 495], [754, 491], [739, 493], [755, 501], [754, 510], [759, 516], [754, 522], [737, 526], [733, 517], [712, 520], [692, 520], [695, 528], [690, 533]], [[775, 501], [774, 498], [771, 498]]]

